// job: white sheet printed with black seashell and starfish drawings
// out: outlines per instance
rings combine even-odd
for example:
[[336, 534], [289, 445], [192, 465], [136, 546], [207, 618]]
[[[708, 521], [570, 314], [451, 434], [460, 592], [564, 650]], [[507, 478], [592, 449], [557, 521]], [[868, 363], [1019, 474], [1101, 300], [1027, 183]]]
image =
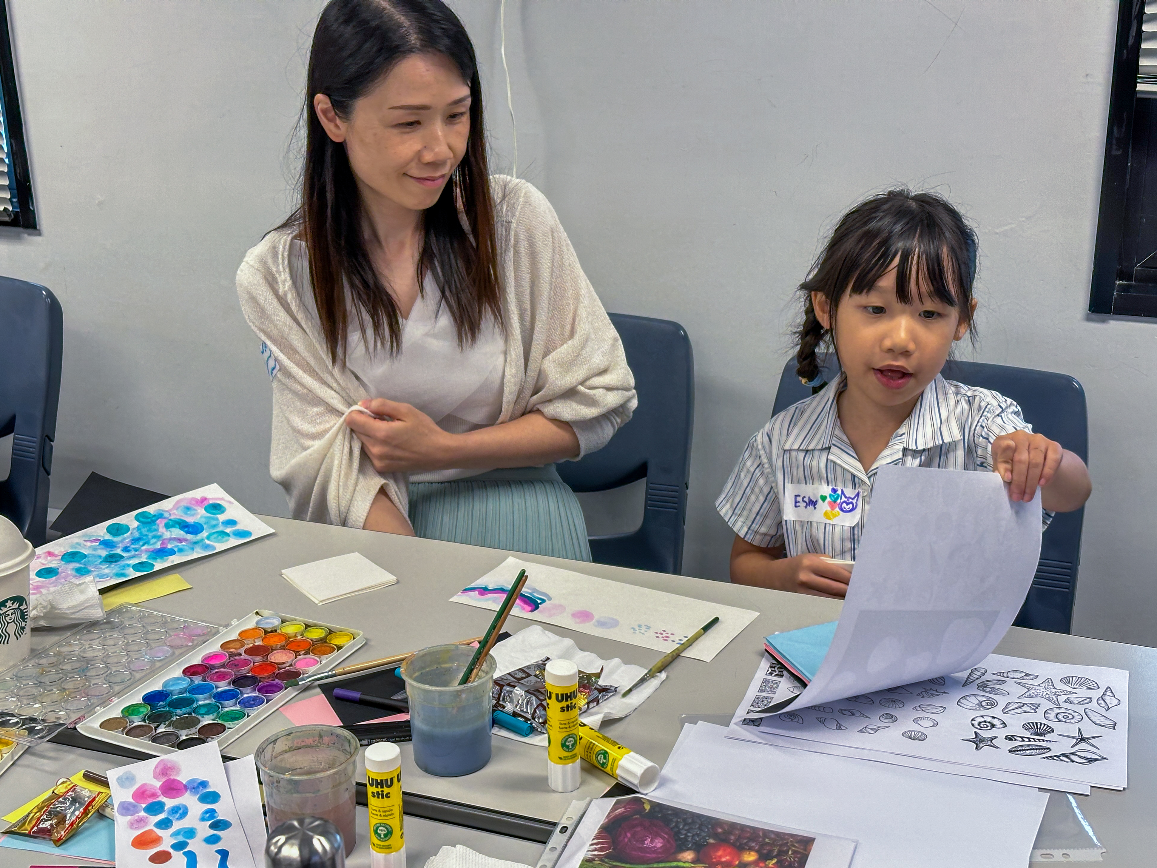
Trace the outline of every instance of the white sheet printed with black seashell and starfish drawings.
[[957, 675], [750, 718], [746, 708], [765, 705], [764, 672], [761, 664], [747, 686], [732, 737], [852, 748], [901, 765], [934, 760], [958, 774], [1040, 775], [1047, 780], [1037, 786], [1057, 789], [1070, 789], [1067, 780], [1113, 789], [1128, 782], [1129, 674], [1120, 669], [990, 654]]

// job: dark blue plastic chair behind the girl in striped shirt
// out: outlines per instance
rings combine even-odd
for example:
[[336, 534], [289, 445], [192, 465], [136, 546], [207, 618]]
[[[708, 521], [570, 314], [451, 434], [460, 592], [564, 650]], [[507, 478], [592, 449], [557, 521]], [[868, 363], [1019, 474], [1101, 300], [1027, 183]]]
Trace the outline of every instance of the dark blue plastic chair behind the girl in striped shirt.
[[[827, 380], [839, 373], [831, 354], [823, 359]], [[796, 402], [811, 397], [811, 389], [799, 382], [793, 359], [780, 377], [773, 415]], [[950, 361], [943, 370], [946, 380], [992, 389], [1020, 405], [1024, 419], [1034, 432], [1055, 440], [1066, 449], [1089, 461], [1089, 411], [1084, 389], [1068, 374], [1054, 374], [1005, 365]], [[1073, 628], [1073, 604], [1077, 595], [1081, 564], [1081, 529], [1084, 508], [1057, 513], [1040, 542], [1040, 562], [1025, 597], [1016, 626], [1068, 633]]]

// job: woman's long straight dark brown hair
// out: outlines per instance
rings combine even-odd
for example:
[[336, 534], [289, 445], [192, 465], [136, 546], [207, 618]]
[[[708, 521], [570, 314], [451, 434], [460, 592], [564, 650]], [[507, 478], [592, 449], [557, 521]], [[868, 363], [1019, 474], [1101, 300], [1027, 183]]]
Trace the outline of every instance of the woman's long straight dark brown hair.
[[329, 96], [333, 110], [346, 119], [354, 103], [399, 60], [425, 53], [449, 58], [470, 83], [471, 103], [466, 153], [442, 196], [422, 214], [419, 285], [427, 274], [434, 278], [460, 346], [478, 338], [487, 314], [502, 323], [482, 87], [466, 29], [441, 0], [331, 0], [309, 52], [301, 206], [279, 228], [297, 229], [305, 242], [314, 302], [334, 362], [345, 361], [349, 308], [367, 346], [369, 331], [374, 346], [388, 344], [397, 353], [401, 323], [398, 306], [370, 262], [362, 203], [345, 146], [326, 135], [314, 97]]

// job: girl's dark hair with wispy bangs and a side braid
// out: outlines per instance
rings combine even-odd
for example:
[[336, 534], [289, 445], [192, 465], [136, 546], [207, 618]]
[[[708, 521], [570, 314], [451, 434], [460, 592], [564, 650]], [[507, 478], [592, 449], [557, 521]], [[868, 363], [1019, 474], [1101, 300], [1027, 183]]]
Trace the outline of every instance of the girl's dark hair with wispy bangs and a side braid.
[[843, 293], [867, 293], [897, 259], [896, 296], [901, 304], [921, 299], [921, 287], [927, 287], [934, 299], [956, 308], [972, 332], [977, 234], [943, 197], [889, 190], [840, 218], [799, 285], [804, 318], [796, 331], [796, 374], [802, 381], [819, 376], [817, 351], [831, 341], [830, 332], [816, 318], [811, 294], [823, 293], [827, 299], [834, 326]]

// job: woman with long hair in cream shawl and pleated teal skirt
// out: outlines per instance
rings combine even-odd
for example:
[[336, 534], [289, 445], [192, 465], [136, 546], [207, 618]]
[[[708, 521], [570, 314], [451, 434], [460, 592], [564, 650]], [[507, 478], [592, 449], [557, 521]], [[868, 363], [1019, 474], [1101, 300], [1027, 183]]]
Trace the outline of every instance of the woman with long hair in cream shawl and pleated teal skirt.
[[294, 517], [590, 560], [552, 462], [605, 446], [634, 380], [550, 204], [488, 175], [462, 23], [332, 0], [304, 118], [301, 207], [237, 272]]

